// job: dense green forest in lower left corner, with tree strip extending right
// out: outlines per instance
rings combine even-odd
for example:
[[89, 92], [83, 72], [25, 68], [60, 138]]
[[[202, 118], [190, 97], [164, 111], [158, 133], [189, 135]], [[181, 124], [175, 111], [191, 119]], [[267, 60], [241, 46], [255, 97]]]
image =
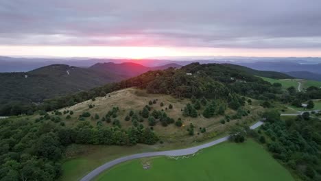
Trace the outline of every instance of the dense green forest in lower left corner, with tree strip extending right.
[[0, 180], [56, 180], [60, 161], [71, 143], [93, 145], [154, 144], [158, 137], [150, 128], [93, 127], [80, 121], [75, 128], [50, 119], [4, 119], [0, 121]]

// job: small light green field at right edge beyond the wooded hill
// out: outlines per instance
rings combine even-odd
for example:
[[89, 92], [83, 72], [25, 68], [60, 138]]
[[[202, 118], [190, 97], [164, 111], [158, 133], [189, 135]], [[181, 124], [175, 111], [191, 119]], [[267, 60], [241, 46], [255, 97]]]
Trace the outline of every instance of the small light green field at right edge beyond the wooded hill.
[[283, 88], [289, 88], [290, 86], [294, 86], [296, 90], [298, 90], [299, 82], [301, 83], [300, 90], [305, 90], [309, 86], [316, 86], [321, 87], [321, 82], [314, 81], [314, 80], [302, 80], [302, 79], [285, 79], [285, 80], [275, 80], [267, 77], [261, 77], [263, 80], [273, 83], [280, 83], [282, 84]]

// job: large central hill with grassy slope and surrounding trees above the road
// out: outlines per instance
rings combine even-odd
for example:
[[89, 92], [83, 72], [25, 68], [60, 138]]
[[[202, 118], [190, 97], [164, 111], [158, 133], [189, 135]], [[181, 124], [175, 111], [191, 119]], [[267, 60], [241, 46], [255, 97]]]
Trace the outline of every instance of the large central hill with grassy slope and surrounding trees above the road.
[[[321, 88], [310, 87], [300, 93], [282, 90], [281, 84], [270, 84], [224, 64], [193, 63], [180, 69], [147, 71], [121, 82], [47, 99], [36, 106], [33, 115], [1, 119], [0, 177], [18, 178], [14, 173], [23, 173], [28, 180], [58, 179], [62, 158], [90, 154], [94, 145], [145, 144], [144, 149], [172, 149], [230, 134], [231, 141], [239, 143], [247, 136], [265, 141], [274, 158], [284, 161], [289, 169], [303, 168], [297, 170], [300, 176], [318, 180], [320, 136], [309, 132], [316, 132], [320, 121], [310, 120], [313, 126], [308, 126], [305, 113], [285, 124], [278, 121], [280, 114], [274, 109], [286, 109], [276, 104], [281, 101], [287, 104], [320, 97]], [[251, 132], [250, 122], [262, 116], [267, 127]], [[291, 124], [295, 125], [288, 129]], [[280, 129], [287, 134], [279, 134]], [[99, 159], [139, 151], [111, 152], [114, 154], [103, 153]], [[70, 161], [63, 168], [77, 167], [72, 174], [78, 176], [97, 166], [91, 162], [84, 168], [81, 162], [86, 160]]]

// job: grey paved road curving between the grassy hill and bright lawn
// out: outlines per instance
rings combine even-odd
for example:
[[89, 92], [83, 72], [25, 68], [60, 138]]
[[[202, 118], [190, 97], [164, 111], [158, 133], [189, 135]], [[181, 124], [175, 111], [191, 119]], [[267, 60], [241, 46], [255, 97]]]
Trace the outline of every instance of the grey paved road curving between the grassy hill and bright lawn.
[[[250, 126], [250, 129], [254, 130], [255, 128], [258, 128], [260, 125], [262, 125], [262, 121], [258, 121], [254, 125]], [[90, 181], [95, 178], [95, 176], [98, 176], [99, 173], [102, 173], [106, 169], [109, 169], [110, 167], [113, 167], [121, 162], [126, 162], [128, 160], [133, 160], [136, 158], [144, 158], [144, 157], [151, 157], [151, 156], [183, 156], [183, 155], [189, 155], [189, 154], [195, 154], [198, 152], [200, 149], [206, 148], [206, 147], [211, 147], [213, 145], [217, 145], [218, 143], [222, 143], [224, 141], [228, 141], [229, 136], [225, 136], [224, 138], [219, 138], [215, 141], [211, 141], [209, 143], [205, 143], [203, 145], [198, 145], [195, 147], [189, 147], [186, 149], [175, 149], [175, 150], [169, 150], [169, 151], [164, 151], [164, 152], [146, 152], [146, 153], [141, 153], [141, 154], [134, 154], [130, 156], [123, 156], [121, 158], [118, 158], [116, 160], [112, 160], [110, 162], [106, 162], [104, 165], [98, 167], [97, 169], [94, 169], [88, 175], [84, 176], [82, 180], [80, 181]]]

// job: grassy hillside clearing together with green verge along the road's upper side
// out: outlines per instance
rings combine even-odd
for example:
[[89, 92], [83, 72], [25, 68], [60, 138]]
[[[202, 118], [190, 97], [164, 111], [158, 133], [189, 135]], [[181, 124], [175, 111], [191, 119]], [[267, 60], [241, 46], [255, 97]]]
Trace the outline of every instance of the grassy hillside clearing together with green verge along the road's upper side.
[[[213, 117], [206, 119], [199, 115], [197, 118], [182, 117], [182, 109], [190, 102], [189, 99], [176, 99], [170, 95], [154, 95], [147, 94], [145, 90], [136, 88], [126, 88], [123, 90], [110, 93], [110, 97], [96, 97], [95, 100], [84, 101], [80, 104], [76, 104], [69, 108], [62, 108], [60, 112], [64, 110], [73, 111], [71, 119], [66, 119], [67, 114], [62, 114], [61, 119], [66, 123], [66, 126], [73, 127], [78, 124], [78, 117], [83, 112], [90, 112], [92, 116], [99, 115], [99, 119], [88, 117], [86, 120], [90, 121], [92, 125], [96, 125], [97, 121], [101, 120], [106, 115], [108, 110], [112, 107], [119, 107], [117, 113], [117, 119], [121, 123], [122, 128], [129, 128], [132, 126], [132, 121], [125, 121], [126, 115], [130, 110], [139, 112], [145, 105], [148, 105], [150, 100], [157, 99], [156, 104], [150, 105], [154, 110], [162, 110], [166, 114], [177, 120], [182, 118], [183, 125], [189, 125], [193, 123], [195, 125], [195, 134], [189, 136], [187, 132], [187, 126], [177, 127], [174, 124], [163, 127], [160, 123], [154, 126], [154, 131], [163, 144], [157, 143], [156, 145], [135, 145], [133, 147], [119, 147], [119, 146], [107, 146], [107, 145], [71, 145], [67, 147], [65, 160], [62, 164], [62, 177], [60, 180], [78, 180], [82, 176], [86, 175], [89, 171], [95, 169], [99, 165], [102, 165], [108, 160], [119, 158], [120, 156], [136, 154], [140, 152], [162, 151], [168, 149], [177, 149], [190, 147], [191, 145], [197, 145], [200, 142], [210, 141], [217, 136], [226, 134], [227, 130], [235, 123], [251, 123], [259, 119], [259, 112], [263, 112], [263, 108], [259, 106], [260, 101], [252, 99], [252, 105], [246, 104], [246, 110], [250, 110], [251, 114], [248, 117], [242, 119], [231, 120], [225, 124], [220, 123], [223, 116]], [[164, 103], [164, 106], [160, 106], [160, 102]], [[168, 109], [169, 104], [173, 105], [173, 109]], [[88, 105], [95, 105], [93, 108], [89, 108]], [[166, 110], [167, 108], [167, 110]], [[202, 114], [202, 109], [198, 110], [199, 114]], [[50, 113], [51, 114], [51, 113]], [[234, 110], [226, 110], [226, 114], [235, 114]], [[31, 119], [35, 119], [38, 115], [34, 115]], [[144, 119], [142, 123], [145, 127], [148, 127], [147, 119]], [[112, 123], [106, 123], [103, 121], [104, 126], [112, 126]], [[199, 128], [206, 128], [205, 133], [200, 132]]]

